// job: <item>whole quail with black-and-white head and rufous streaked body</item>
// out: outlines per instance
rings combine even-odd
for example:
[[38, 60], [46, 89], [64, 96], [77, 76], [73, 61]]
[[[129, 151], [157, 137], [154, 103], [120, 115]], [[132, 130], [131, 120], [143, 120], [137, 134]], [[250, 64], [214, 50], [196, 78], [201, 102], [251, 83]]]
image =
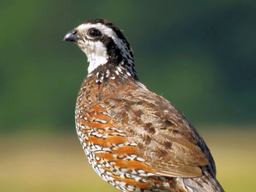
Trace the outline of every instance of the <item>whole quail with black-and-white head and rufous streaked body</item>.
[[117, 190], [224, 191], [197, 130], [163, 96], [139, 81], [130, 43], [111, 21], [92, 19], [69, 31], [88, 58], [75, 125], [88, 162]]

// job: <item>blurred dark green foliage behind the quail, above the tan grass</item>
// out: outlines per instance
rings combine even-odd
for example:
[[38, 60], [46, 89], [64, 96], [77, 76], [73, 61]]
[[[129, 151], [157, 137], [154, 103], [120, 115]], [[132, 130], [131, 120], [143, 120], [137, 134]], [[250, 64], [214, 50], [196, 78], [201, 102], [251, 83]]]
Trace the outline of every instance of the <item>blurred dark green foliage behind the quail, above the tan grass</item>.
[[125, 30], [140, 80], [196, 124], [254, 124], [255, 1], [4, 1], [0, 129], [71, 129], [87, 59], [68, 30], [105, 18]]

